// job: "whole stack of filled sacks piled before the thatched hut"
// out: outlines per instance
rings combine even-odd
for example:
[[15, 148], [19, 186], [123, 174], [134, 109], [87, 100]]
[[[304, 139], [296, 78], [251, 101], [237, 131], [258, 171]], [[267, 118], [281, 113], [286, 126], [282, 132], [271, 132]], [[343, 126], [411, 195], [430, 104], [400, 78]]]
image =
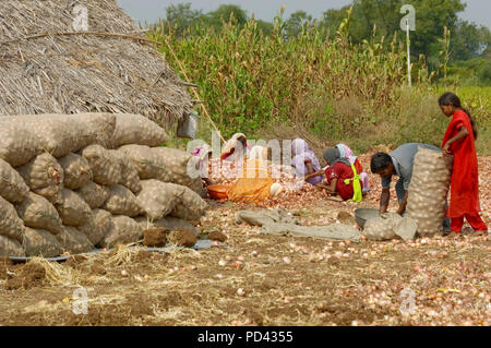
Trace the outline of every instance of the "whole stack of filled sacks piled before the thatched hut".
[[140, 115], [0, 117], [0, 255], [89, 252], [149, 228], [195, 232], [202, 181], [166, 141]]

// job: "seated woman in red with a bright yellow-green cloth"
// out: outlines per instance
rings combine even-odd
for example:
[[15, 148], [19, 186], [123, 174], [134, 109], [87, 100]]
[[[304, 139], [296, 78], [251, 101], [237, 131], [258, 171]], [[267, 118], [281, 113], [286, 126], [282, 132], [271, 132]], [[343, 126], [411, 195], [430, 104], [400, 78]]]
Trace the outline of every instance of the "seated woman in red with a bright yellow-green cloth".
[[338, 194], [344, 201], [361, 202], [363, 183], [355, 165], [348, 158], [339, 157], [336, 148], [327, 148], [323, 155], [330, 167], [325, 170], [326, 183], [319, 187], [328, 193]]

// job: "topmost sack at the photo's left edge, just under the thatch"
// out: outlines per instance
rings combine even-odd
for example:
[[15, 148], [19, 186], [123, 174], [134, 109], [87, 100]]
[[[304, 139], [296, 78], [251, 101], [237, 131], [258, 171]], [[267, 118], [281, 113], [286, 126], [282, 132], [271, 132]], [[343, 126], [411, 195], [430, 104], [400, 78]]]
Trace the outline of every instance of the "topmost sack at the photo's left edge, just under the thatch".
[[39, 139], [22, 123], [0, 117], [0, 158], [12, 167], [28, 163], [41, 152]]

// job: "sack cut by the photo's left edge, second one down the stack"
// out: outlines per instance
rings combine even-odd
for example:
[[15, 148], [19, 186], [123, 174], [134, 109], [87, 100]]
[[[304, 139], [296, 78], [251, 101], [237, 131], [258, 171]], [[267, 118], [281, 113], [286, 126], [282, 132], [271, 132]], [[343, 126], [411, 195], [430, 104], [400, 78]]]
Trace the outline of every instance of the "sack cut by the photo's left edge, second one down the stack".
[[21, 175], [9, 163], [0, 159], [0, 196], [17, 203], [24, 201], [28, 192], [29, 188]]

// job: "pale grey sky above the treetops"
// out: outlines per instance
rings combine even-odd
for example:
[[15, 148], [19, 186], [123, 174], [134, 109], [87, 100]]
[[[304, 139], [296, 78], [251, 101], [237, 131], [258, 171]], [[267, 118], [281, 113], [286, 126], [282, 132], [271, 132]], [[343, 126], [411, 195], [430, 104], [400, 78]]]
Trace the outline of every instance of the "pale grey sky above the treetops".
[[[136, 22], [154, 23], [158, 17], [166, 16], [166, 8], [170, 4], [191, 2], [194, 10], [204, 13], [216, 10], [220, 4], [239, 4], [249, 15], [272, 22], [282, 5], [286, 7], [285, 17], [290, 13], [303, 10], [314, 17], [321, 17], [328, 9], [339, 9], [351, 0], [117, 0], [119, 5]], [[486, 25], [491, 28], [491, 0], [464, 0], [467, 3], [463, 20]], [[418, 11], [418, 9], [416, 9]]]

